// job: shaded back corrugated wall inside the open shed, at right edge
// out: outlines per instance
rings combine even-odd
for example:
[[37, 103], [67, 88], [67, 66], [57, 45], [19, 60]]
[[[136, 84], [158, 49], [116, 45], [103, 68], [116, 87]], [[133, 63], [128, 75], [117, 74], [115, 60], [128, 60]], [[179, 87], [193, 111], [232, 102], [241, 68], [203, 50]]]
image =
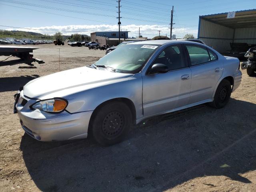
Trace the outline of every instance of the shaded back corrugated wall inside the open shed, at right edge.
[[235, 31], [234, 42], [256, 44], [256, 27], [237, 28]]

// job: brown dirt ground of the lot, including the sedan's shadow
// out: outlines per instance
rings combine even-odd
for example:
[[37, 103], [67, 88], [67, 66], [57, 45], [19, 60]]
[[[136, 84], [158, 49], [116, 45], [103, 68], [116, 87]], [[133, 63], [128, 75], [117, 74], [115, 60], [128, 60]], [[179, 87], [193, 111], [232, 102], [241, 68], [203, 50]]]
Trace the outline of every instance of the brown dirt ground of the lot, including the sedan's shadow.
[[256, 78], [246, 71], [225, 108], [200, 105], [150, 118], [110, 147], [92, 139], [39, 142], [12, 114], [16, 90], [105, 52], [35, 47], [34, 57], [45, 61], [36, 69], [18, 69], [26, 65], [11, 58], [0, 66], [0, 191], [256, 191]]

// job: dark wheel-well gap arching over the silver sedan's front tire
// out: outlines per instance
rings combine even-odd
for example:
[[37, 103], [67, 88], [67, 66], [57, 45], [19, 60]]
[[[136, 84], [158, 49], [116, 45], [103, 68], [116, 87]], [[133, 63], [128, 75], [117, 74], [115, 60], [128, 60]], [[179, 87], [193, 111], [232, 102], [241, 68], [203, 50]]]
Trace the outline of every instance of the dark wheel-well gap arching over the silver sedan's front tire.
[[92, 121], [93, 119], [95, 118], [98, 110], [100, 110], [100, 108], [110, 102], [114, 102], [114, 101], [119, 101], [119, 102], [123, 102], [125, 103], [131, 110], [132, 112], [132, 123], [133, 124], [136, 124], [136, 109], [135, 109], [135, 106], [134, 106], [134, 103], [128, 99], [128, 98], [114, 98], [114, 99], [110, 99], [110, 100], [107, 100], [105, 102], [103, 102], [102, 104], [100, 104], [99, 106], [97, 106], [94, 111], [92, 112], [92, 116], [90, 118], [90, 121], [89, 121], [89, 127], [88, 127], [88, 133], [90, 134], [90, 128], [91, 128], [91, 124], [92, 124]]

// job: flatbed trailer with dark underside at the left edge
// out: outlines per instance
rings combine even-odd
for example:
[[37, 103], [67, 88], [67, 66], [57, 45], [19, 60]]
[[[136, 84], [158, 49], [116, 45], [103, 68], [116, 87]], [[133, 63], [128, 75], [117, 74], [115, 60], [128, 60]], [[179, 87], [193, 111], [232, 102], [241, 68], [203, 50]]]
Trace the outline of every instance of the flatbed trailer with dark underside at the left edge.
[[30, 66], [34, 66], [32, 62], [38, 62], [39, 64], [44, 63], [40, 59], [33, 58], [33, 54], [30, 54], [33, 53], [33, 50], [35, 49], [38, 48], [26, 46], [0, 46], [0, 56], [14, 56], [20, 58], [20, 60]]

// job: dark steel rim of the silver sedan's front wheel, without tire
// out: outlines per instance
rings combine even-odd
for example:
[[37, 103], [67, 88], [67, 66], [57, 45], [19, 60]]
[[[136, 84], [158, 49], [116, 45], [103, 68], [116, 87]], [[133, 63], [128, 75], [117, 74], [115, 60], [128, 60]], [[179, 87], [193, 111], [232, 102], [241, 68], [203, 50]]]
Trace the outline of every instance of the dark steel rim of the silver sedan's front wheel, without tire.
[[119, 112], [108, 113], [102, 124], [102, 131], [108, 138], [114, 138], [122, 133], [124, 117]]

